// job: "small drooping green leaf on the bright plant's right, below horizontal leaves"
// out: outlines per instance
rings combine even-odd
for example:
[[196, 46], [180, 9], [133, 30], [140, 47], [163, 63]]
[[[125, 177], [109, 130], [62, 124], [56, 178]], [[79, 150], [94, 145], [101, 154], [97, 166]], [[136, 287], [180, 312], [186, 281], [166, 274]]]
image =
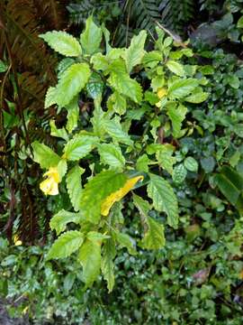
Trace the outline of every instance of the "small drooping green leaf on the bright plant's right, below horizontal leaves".
[[180, 137], [182, 122], [184, 121], [187, 108], [183, 105], [170, 105], [167, 107], [167, 116], [169, 116], [172, 126], [173, 126], [173, 135], [175, 137]]

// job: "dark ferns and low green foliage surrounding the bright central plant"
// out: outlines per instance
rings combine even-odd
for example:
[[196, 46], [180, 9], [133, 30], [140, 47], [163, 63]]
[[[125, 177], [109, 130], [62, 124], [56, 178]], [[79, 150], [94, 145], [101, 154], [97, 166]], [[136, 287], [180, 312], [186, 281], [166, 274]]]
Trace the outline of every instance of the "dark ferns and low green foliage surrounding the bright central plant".
[[[1, 2], [0, 230], [10, 243], [17, 235], [26, 244], [7, 246], [1, 239], [0, 294], [8, 295], [11, 315], [24, 311], [37, 324], [242, 323], [242, 10], [240, 0]], [[175, 38], [189, 37], [192, 63], [208, 71], [210, 93], [202, 105], [188, 106], [187, 130], [177, 144], [178, 164], [189, 156], [199, 163], [198, 172], [173, 182], [180, 228], [167, 230], [159, 252], [118, 257], [110, 295], [102, 282], [83, 292], [73, 260], [44, 262], [48, 247], [40, 244], [63, 202], [41, 195], [40, 170], [30, 159], [36, 139], [57, 147], [49, 118], [58, 125], [65, 120], [55, 109], [43, 109], [46, 89], [56, 81], [57, 57], [38, 35], [52, 29], [78, 35], [90, 14], [106, 24], [115, 46], [129, 44], [140, 29], [152, 39], [156, 22]], [[126, 211], [126, 230], [139, 237], [132, 204]]]

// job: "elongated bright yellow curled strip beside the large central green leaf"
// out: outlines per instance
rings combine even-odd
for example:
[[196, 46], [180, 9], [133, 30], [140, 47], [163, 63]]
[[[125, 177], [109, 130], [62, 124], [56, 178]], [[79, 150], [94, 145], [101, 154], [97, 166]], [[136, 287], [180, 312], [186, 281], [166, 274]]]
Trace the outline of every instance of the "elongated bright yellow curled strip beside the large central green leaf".
[[116, 190], [111, 195], [109, 195], [105, 200], [103, 200], [101, 214], [103, 216], [108, 216], [113, 203], [120, 201], [138, 181], [142, 180], [143, 176], [133, 177], [132, 179], [126, 181], [125, 185], [120, 190]]

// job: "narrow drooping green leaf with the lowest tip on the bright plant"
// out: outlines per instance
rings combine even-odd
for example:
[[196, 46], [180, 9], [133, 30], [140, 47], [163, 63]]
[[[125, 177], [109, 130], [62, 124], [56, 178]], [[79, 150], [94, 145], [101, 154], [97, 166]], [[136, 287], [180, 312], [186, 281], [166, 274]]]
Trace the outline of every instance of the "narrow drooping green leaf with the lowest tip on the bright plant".
[[112, 292], [114, 286], [114, 263], [113, 259], [116, 255], [115, 243], [112, 238], [107, 239], [103, 244], [103, 257], [101, 262], [101, 269], [104, 280], [107, 282], [109, 292]]

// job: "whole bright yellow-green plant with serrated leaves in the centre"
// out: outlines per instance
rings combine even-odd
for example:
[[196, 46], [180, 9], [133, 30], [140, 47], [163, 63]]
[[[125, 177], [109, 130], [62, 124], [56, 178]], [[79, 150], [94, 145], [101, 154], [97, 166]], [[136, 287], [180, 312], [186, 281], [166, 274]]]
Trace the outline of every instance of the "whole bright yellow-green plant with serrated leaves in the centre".
[[[158, 28], [153, 51], [144, 50], [145, 31], [132, 38], [129, 48], [112, 48], [109, 32], [95, 25], [92, 17], [86, 21], [80, 42], [66, 32], [47, 32], [40, 37], [67, 56], [58, 65], [58, 84], [49, 88], [45, 100], [45, 107], [55, 104], [58, 110], [64, 107], [67, 111], [66, 126], [57, 128], [50, 121], [51, 135], [62, 139], [58, 153], [45, 144], [32, 144], [34, 161], [48, 170], [40, 189], [57, 195], [66, 179], [72, 204], [72, 208], [63, 204], [50, 220], [50, 228], [62, 234], [48, 258], [77, 251], [86, 286], [94, 283], [101, 268], [112, 291], [116, 248], [126, 246], [130, 254], [136, 253], [134, 240], [121, 232], [121, 199], [133, 187], [137, 189], [133, 201], [145, 229], [140, 246], [165, 245], [164, 225], [150, 216], [151, 209], [165, 212], [166, 224], [177, 228], [177, 201], [166, 180], [175, 163], [173, 142], [184, 135], [184, 103], [205, 100], [202, 85], [207, 81], [196, 74], [196, 65], [179, 62], [193, 52], [173, 51], [172, 38]], [[81, 116], [78, 98], [89, 103]], [[188, 162], [187, 168], [194, 170], [195, 163]], [[71, 222], [79, 228], [63, 233]]]

